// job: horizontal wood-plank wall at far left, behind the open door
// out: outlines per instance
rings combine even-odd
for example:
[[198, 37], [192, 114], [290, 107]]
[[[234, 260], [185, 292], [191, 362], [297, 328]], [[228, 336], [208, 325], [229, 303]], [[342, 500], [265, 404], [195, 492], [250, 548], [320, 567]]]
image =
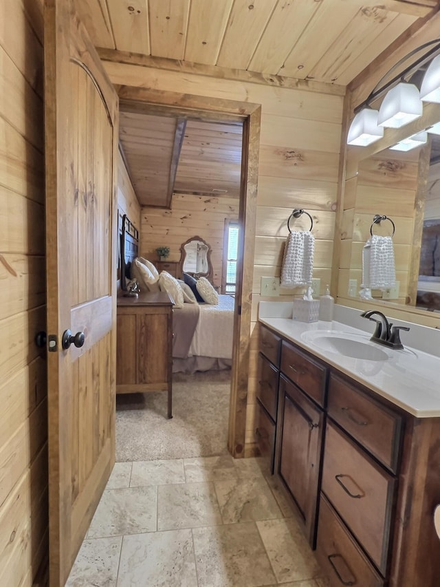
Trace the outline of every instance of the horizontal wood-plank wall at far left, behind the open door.
[[47, 557], [43, 18], [0, 3], [0, 585]]

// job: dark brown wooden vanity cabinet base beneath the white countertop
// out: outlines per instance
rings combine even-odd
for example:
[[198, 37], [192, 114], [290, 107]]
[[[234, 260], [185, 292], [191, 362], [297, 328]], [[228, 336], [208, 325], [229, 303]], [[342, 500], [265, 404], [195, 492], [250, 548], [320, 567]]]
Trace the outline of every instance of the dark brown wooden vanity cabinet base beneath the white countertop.
[[[260, 360], [276, 359], [280, 337], [263, 332]], [[440, 585], [440, 418], [408, 414], [282, 337], [278, 381], [277, 417], [265, 389], [260, 426], [331, 587]]]

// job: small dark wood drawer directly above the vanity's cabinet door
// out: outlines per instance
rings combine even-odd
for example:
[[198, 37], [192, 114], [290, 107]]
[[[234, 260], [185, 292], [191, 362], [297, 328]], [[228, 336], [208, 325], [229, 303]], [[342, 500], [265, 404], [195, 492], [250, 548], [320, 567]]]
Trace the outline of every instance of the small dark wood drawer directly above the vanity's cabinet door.
[[319, 405], [324, 405], [326, 368], [283, 341], [281, 371]]

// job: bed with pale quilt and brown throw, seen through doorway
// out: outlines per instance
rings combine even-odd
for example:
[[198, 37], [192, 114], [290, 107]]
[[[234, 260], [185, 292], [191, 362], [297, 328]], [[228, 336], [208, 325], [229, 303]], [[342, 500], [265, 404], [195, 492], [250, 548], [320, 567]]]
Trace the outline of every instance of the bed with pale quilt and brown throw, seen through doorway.
[[173, 310], [173, 373], [230, 368], [234, 303], [220, 294], [218, 306], [184, 303]]

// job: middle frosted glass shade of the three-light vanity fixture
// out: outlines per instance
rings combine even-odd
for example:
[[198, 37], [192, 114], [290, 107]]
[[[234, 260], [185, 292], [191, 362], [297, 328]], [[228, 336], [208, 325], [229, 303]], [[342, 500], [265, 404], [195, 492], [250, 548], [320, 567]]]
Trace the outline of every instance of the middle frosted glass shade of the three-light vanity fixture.
[[381, 127], [399, 129], [423, 113], [420, 93], [413, 83], [401, 82], [386, 94], [379, 109], [377, 124]]

